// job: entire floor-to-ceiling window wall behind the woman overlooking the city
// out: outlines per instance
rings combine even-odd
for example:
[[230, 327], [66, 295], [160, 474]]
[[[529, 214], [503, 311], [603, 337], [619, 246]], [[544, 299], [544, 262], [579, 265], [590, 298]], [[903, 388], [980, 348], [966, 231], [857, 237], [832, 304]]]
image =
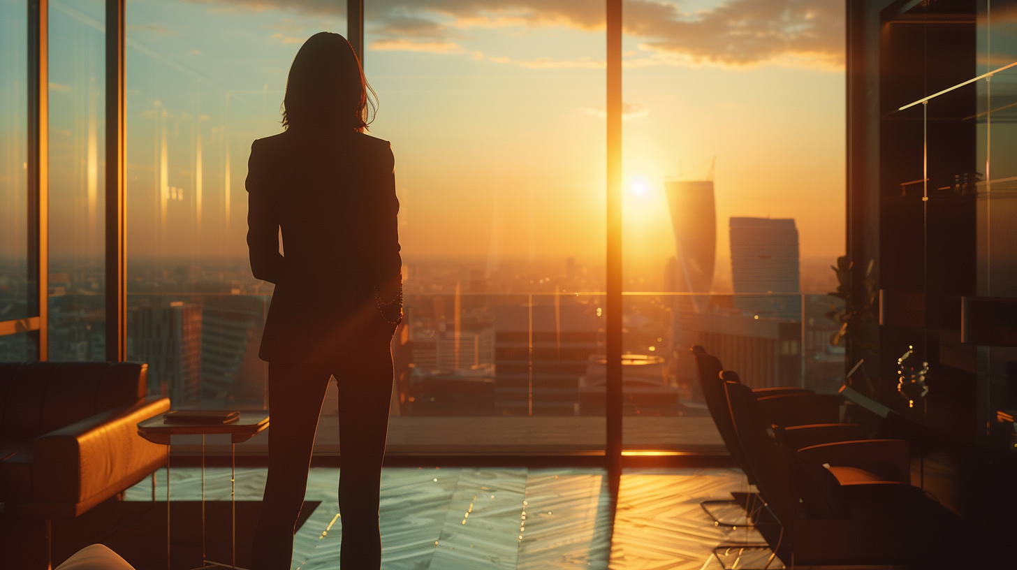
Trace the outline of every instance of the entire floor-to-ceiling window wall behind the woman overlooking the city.
[[[50, 357], [100, 359], [104, 3], [49, 7]], [[392, 448], [603, 449], [604, 5], [365, 10], [370, 132], [393, 141], [402, 203]], [[127, 357], [175, 406], [267, 407], [272, 286], [247, 265], [246, 160], [283, 129], [297, 49], [345, 34], [345, 5], [127, 0], [126, 14]], [[753, 386], [830, 391], [843, 376], [822, 294], [843, 248], [842, 7], [624, 14], [625, 441], [716, 445], [690, 345]]]

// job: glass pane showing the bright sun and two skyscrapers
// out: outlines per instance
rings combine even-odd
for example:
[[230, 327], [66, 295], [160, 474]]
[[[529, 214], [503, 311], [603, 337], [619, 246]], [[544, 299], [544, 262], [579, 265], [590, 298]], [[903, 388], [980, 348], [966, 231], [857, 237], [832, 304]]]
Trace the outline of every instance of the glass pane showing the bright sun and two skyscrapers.
[[[844, 251], [844, 8], [740, 6], [624, 14], [629, 449], [722, 444], [695, 345], [754, 388], [833, 392], [844, 376], [826, 295]], [[757, 42], [774, 30], [786, 41]]]

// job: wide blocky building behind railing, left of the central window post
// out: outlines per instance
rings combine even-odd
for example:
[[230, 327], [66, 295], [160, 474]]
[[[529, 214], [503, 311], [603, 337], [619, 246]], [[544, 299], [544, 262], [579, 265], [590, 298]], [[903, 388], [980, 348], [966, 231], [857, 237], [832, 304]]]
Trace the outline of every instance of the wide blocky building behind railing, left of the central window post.
[[578, 413], [579, 379], [600, 350], [601, 325], [596, 307], [579, 302], [495, 307], [496, 413]]

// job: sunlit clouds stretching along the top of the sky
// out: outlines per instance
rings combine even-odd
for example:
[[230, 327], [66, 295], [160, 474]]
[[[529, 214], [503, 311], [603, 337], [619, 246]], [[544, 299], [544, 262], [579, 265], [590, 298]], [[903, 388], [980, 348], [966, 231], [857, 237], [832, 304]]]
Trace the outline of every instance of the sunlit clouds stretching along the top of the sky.
[[[341, 4], [335, 0], [219, 1], [310, 15], [337, 15]], [[603, 3], [589, 0], [372, 0], [364, 4], [366, 25], [379, 37], [371, 45], [374, 49], [466, 53], [461, 44], [473, 28], [594, 31], [604, 26]], [[695, 12], [664, 0], [624, 0], [623, 10], [625, 34], [642, 41], [640, 55], [630, 58], [629, 66], [843, 68], [843, 3], [834, 0], [728, 0]], [[528, 66], [555, 67], [550, 60], [533, 60]]]

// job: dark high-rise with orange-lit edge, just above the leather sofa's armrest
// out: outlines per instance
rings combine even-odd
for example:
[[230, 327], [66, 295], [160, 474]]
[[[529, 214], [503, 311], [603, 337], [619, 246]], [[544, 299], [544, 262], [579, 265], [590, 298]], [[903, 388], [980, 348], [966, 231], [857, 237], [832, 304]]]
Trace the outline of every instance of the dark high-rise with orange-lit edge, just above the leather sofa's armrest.
[[148, 392], [196, 406], [201, 388], [201, 307], [173, 301], [132, 310], [128, 357], [148, 363]]

